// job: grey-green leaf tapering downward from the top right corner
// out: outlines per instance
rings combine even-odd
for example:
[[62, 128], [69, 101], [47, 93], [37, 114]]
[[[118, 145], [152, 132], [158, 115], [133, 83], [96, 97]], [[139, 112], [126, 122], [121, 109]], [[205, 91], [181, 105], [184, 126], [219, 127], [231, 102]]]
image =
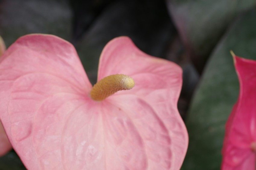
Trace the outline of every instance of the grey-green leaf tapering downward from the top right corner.
[[255, 0], [168, 0], [181, 38], [201, 70], [236, 14], [255, 6]]

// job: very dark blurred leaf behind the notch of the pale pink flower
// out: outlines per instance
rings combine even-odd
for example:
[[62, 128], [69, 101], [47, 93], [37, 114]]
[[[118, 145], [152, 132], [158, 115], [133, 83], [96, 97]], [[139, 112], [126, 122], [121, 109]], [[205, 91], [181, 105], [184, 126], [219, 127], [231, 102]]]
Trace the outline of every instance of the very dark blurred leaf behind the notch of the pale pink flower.
[[145, 53], [164, 56], [175, 30], [164, 5], [161, 1], [115, 1], [98, 16], [75, 45], [92, 84], [102, 48], [118, 36], [129, 36]]

